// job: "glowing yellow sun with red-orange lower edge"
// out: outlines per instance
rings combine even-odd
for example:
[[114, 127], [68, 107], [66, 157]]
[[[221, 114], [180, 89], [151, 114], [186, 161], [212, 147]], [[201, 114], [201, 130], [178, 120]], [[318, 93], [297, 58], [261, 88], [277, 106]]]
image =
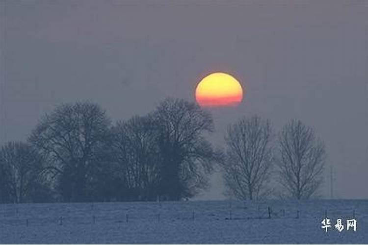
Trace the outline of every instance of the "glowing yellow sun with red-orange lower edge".
[[198, 83], [195, 98], [202, 107], [237, 105], [243, 99], [243, 89], [234, 76], [211, 73]]

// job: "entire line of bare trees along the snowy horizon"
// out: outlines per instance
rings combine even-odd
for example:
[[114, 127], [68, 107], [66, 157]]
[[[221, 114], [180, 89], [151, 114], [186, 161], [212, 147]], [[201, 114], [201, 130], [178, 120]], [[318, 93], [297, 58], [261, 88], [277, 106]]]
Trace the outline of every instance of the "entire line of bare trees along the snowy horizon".
[[181, 200], [206, 188], [216, 165], [239, 199], [274, 194], [274, 167], [285, 195], [316, 193], [324, 146], [300, 121], [283, 128], [277, 150], [270, 123], [257, 116], [229, 125], [226, 149], [205, 139], [213, 130], [210, 113], [183, 99], [117, 123], [98, 104], [62, 104], [26, 142], [1, 147], [0, 202]]

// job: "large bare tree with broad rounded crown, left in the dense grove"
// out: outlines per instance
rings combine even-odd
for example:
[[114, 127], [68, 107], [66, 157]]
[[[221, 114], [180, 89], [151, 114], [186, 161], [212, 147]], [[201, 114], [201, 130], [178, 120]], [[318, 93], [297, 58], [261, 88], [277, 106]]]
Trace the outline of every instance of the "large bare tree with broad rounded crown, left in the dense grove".
[[99, 105], [63, 104], [41, 120], [29, 142], [59, 173], [58, 188], [66, 201], [84, 200], [88, 180], [106, 144], [110, 121]]

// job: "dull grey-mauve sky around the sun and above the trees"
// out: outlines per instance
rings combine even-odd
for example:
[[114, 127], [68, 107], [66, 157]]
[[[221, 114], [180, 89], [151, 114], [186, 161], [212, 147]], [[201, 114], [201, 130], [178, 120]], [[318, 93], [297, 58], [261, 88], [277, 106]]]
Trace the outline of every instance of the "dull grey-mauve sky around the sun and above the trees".
[[[275, 131], [297, 118], [327, 150], [323, 194], [368, 198], [368, 1], [0, 1], [0, 144], [26, 140], [55, 105], [101, 104], [114, 120], [167, 96], [195, 101], [207, 73], [233, 74], [228, 123], [258, 114]], [[220, 174], [201, 199], [222, 199]]]

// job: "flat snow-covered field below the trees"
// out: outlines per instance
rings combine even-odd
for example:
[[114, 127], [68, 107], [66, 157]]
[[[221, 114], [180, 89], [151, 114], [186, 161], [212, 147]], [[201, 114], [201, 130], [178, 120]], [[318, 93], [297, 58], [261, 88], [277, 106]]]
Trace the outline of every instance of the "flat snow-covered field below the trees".
[[[354, 213], [355, 232], [346, 230]], [[368, 244], [368, 200], [2, 204], [0, 243]]]

